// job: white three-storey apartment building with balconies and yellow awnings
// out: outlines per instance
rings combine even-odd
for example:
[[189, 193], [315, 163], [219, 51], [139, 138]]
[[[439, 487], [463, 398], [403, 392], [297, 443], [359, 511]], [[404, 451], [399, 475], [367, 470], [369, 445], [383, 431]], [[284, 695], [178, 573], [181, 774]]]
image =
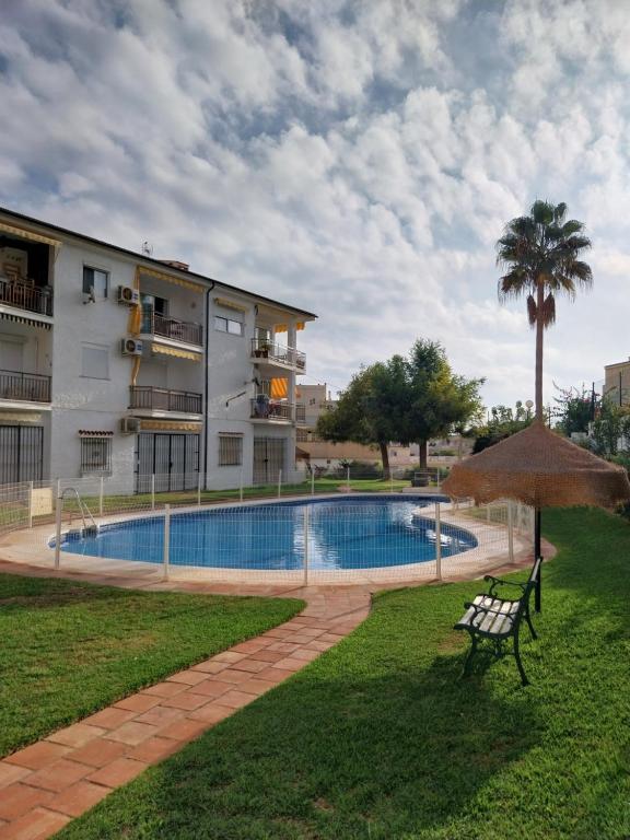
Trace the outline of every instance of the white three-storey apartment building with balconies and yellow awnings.
[[315, 315], [0, 209], [0, 483], [295, 477]]

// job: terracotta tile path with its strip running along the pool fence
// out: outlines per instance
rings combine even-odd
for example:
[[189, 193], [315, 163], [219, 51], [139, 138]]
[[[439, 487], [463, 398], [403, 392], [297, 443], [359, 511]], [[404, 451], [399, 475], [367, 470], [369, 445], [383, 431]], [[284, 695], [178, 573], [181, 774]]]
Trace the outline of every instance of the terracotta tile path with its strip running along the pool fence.
[[[552, 555], [546, 547], [546, 556]], [[532, 562], [522, 556], [501, 573]], [[50, 576], [49, 571], [0, 561], [0, 572]], [[79, 723], [0, 761], [0, 840], [45, 840], [199, 737], [214, 724], [282, 682], [360, 625], [370, 611], [366, 586], [306, 588], [145, 584], [110, 576], [61, 574], [143, 590], [295, 597], [306, 608], [290, 621], [241, 642], [162, 682], [119, 700]], [[389, 588], [398, 588], [400, 583]], [[413, 582], [413, 585], [418, 585]]]

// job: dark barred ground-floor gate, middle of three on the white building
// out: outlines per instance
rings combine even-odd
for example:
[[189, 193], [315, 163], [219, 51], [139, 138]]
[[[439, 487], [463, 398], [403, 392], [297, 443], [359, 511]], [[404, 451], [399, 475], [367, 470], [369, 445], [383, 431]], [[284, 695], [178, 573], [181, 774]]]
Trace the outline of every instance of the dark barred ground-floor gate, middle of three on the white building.
[[141, 432], [138, 435], [136, 492], [194, 490], [199, 474], [199, 435]]

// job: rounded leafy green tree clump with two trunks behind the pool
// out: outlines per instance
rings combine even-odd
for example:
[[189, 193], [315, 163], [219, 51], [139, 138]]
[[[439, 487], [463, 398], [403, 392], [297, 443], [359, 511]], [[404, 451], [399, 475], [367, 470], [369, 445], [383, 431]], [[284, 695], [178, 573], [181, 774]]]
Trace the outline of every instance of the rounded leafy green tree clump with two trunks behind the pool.
[[428, 440], [480, 411], [481, 383], [455, 375], [441, 345], [417, 341], [407, 359], [394, 355], [355, 374], [337, 406], [319, 418], [317, 433], [329, 441], [376, 444], [385, 478], [390, 441], [419, 443], [425, 467]]

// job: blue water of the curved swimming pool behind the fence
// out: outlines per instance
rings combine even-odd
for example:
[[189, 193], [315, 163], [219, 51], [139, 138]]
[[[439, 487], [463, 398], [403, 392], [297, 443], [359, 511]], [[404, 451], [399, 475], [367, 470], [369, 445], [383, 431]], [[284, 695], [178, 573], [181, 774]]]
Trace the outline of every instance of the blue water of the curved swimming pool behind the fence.
[[[446, 501], [443, 499], [442, 501]], [[415, 516], [427, 497], [360, 497], [172, 513], [170, 562], [223, 569], [304, 568], [308, 509], [311, 569], [374, 569], [435, 559], [435, 524]], [[442, 556], [475, 548], [463, 528], [442, 523]], [[161, 563], [164, 517], [102, 525], [97, 536], [66, 538], [63, 551]]]

